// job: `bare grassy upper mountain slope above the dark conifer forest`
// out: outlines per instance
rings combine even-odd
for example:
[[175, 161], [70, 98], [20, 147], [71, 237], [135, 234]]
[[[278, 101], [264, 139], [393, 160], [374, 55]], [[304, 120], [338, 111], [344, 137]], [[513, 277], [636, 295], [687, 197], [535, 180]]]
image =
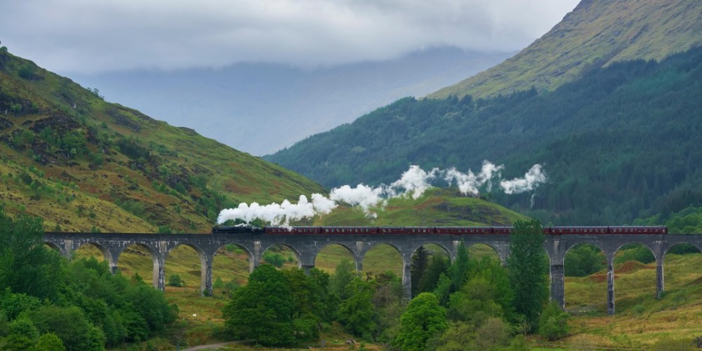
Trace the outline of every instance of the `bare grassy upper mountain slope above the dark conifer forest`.
[[583, 0], [541, 39], [505, 62], [429, 95], [487, 97], [536, 87], [553, 91], [589, 69], [661, 60], [702, 44], [702, 2]]

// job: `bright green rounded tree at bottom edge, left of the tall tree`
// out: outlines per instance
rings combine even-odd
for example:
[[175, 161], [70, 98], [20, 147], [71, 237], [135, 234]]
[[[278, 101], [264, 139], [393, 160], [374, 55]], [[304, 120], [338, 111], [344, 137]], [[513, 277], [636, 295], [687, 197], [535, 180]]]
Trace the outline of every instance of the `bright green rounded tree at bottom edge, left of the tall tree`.
[[424, 350], [427, 340], [448, 329], [446, 311], [432, 293], [413, 298], [400, 317], [395, 345], [402, 350]]

